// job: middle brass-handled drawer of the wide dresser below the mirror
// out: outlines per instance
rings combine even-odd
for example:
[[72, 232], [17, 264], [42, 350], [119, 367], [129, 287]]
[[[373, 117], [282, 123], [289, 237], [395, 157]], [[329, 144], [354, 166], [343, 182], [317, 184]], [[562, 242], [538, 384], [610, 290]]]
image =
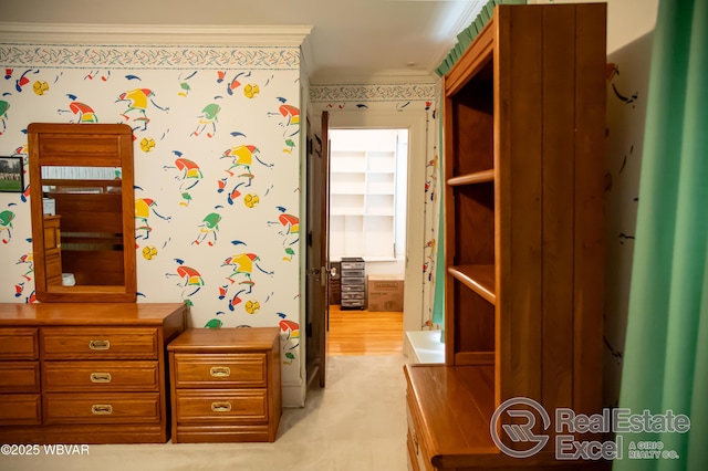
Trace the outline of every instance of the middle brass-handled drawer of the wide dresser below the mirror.
[[46, 391], [158, 391], [157, 362], [44, 362]]

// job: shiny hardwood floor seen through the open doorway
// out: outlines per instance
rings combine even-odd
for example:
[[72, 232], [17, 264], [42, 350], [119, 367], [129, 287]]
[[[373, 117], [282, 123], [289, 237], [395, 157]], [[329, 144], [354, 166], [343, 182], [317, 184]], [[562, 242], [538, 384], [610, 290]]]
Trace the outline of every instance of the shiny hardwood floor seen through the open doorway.
[[403, 353], [403, 312], [342, 311], [330, 306], [327, 355]]

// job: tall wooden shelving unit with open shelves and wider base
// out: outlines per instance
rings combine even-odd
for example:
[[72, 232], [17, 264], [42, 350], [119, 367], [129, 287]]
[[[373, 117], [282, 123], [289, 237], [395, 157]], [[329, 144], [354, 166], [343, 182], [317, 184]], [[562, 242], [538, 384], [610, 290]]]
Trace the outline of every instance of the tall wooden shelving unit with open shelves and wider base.
[[605, 15], [498, 6], [444, 78], [446, 362], [406, 367], [413, 469], [601, 464], [511, 458], [490, 421], [601, 411]]

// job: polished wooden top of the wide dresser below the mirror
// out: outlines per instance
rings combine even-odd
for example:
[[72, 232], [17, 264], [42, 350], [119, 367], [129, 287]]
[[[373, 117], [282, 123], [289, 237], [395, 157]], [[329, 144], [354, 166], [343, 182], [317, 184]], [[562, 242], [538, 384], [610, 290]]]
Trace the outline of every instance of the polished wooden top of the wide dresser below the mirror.
[[183, 303], [0, 303], [0, 326], [17, 325], [160, 325], [186, 315]]

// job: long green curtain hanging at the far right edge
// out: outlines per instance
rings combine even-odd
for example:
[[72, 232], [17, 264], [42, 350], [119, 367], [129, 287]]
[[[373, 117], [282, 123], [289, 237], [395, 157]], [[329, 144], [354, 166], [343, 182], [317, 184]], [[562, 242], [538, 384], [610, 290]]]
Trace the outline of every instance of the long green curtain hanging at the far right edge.
[[659, 0], [653, 48], [620, 407], [691, 422], [614, 469], [708, 470], [708, 1]]

